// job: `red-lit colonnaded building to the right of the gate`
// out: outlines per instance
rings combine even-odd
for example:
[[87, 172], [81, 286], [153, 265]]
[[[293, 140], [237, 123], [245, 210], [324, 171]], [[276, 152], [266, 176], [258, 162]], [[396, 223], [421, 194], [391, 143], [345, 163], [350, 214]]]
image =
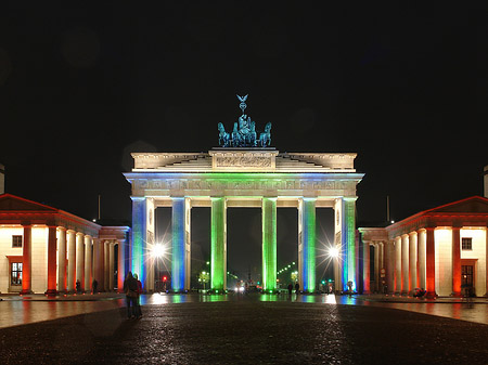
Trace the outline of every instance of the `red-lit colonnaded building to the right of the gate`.
[[[384, 229], [361, 227], [363, 292], [488, 294], [488, 198], [474, 196]], [[386, 287], [385, 287], [386, 286]]]

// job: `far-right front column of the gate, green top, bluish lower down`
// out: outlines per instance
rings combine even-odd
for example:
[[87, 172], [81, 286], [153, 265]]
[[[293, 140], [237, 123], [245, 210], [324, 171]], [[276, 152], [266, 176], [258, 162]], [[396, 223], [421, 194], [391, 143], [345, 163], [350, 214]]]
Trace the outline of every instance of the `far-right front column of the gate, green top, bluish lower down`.
[[[357, 290], [356, 283], [356, 198], [344, 198], [343, 239], [347, 247], [347, 282], [351, 281], [352, 289]], [[347, 286], [347, 282], [344, 283]]]

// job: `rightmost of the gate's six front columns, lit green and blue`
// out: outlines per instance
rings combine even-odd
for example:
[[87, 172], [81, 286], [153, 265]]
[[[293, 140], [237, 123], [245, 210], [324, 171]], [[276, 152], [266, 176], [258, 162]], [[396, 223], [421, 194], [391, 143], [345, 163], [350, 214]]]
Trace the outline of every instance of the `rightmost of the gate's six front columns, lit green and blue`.
[[348, 290], [347, 282], [356, 283], [356, 197], [343, 199], [342, 248], [343, 248], [343, 288]]

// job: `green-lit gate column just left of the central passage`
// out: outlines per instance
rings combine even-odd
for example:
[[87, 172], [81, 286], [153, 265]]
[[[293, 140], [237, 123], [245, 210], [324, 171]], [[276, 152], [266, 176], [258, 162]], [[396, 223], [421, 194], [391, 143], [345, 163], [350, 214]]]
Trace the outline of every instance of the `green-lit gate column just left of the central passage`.
[[211, 198], [210, 288], [227, 288], [227, 209], [224, 197]]

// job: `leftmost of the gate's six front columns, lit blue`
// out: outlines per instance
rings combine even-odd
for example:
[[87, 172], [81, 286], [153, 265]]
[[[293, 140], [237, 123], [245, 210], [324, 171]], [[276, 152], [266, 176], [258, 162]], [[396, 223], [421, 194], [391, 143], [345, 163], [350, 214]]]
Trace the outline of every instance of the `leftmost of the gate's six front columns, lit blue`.
[[145, 286], [144, 255], [146, 252], [146, 201], [145, 197], [132, 196], [132, 247], [131, 263], [132, 273], [139, 275], [139, 281]]

